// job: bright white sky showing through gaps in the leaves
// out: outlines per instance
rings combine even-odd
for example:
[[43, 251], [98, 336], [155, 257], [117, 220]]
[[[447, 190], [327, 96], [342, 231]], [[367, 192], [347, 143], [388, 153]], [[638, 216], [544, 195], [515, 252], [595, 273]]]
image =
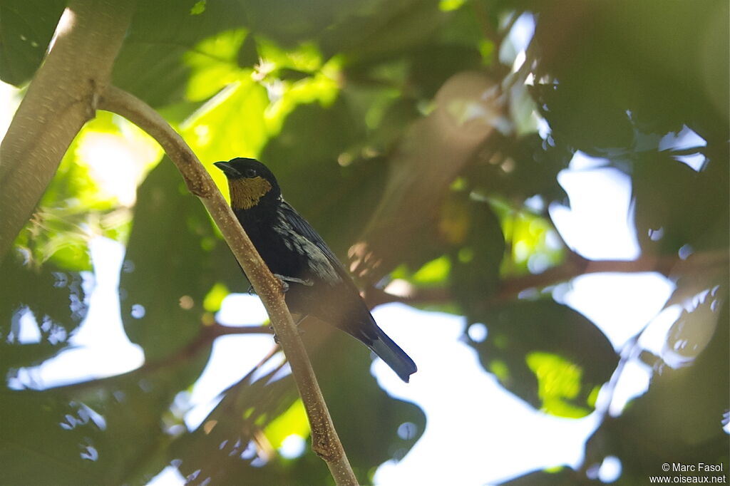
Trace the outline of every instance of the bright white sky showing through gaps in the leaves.
[[[531, 18], [520, 19], [518, 25], [522, 24], [512, 39], [514, 52], [505, 54], [515, 61], [533, 28]], [[0, 96], [8, 103], [13, 93], [0, 85]], [[0, 133], [7, 128], [6, 116], [7, 110], [0, 110]], [[687, 139], [688, 135], [677, 137]], [[629, 177], [603, 162], [577, 153], [570, 168], [558, 177], [572, 209], [556, 205], [550, 207], [550, 215], [569, 247], [587, 258], [637, 258], [639, 247], [630, 225]], [[103, 171], [104, 164], [95, 169]], [[40, 366], [24, 369], [10, 386], [60, 385], [122, 373], [142, 364], [142, 350], [126, 338], [119, 315], [117, 290], [123, 251], [120, 244], [108, 239], [93, 240], [96, 286], [88, 317], [71, 338], [73, 347]], [[555, 296], [599, 325], [618, 349], [653, 320], [673, 288], [672, 282], [658, 274], [593, 274], [558, 286]], [[597, 425], [596, 414], [580, 420], [551, 417], [508, 393], [484, 371], [475, 351], [461, 341], [463, 317], [421, 312], [399, 304], [378, 307], [374, 317], [408, 350], [419, 368], [411, 383], [404, 384], [377, 359], [372, 366], [375, 379], [392, 396], [418, 404], [427, 416], [423, 436], [405, 458], [377, 470], [377, 485], [497, 484], [534, 469], [580, 465], [585, 440]], [[258, 298], [229, 296], [219, 319], [231, 324], [258, 324], [266, 314]], [[672, 315], [662, 314], [649, 333], [653, 338], [645, 344], [661, 349], [672, 322]], [[23, 342], [40, 339], [30, 315], [21, 319], [20, 328]], [[266, 335], [224, 336], [215, 342], [210, 362], [189, 396], [192, 408], [185, 415], [188, 428], [204, 420], [217, 403], [218, 393], [246, 374], [271, 344], [271, 336]], [[453, 373], [455, 369], [458, 374]], [[619, 412], [626, 400], [642, 393], [648, 377], [644, 366], [630, 362], [615, 391], [612, 412]], [[304, 446], [295, 437], [281, 452], [297, 455]], [[442, 467], [446, 463], [450, 467]], [[618, 460], [607, 460], [601, 477], [615, 478], [620, 468]], [[150, 484], [183, 485], [184, 479], [176, 469], [167, 468]]]

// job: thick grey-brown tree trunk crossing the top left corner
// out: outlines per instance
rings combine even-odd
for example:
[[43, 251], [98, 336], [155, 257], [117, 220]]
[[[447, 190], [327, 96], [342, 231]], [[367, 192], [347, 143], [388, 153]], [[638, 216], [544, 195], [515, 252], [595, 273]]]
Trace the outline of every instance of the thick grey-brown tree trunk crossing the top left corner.
[[72, 0], [55, 44], [0, 144], [0, 261], [53, 178], [97, 96], [131, 21], [132, 0]]

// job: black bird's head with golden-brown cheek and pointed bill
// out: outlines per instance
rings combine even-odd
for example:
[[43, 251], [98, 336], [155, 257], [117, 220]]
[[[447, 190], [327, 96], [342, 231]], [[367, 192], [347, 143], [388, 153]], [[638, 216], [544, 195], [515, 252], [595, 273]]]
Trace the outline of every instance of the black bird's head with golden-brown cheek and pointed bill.
[[253, 158], [237, 157], [213, 165], [228, 178], [233, 209], [251, 209], [261, 202], [276, 201], [281, 196], [272, 171]]

